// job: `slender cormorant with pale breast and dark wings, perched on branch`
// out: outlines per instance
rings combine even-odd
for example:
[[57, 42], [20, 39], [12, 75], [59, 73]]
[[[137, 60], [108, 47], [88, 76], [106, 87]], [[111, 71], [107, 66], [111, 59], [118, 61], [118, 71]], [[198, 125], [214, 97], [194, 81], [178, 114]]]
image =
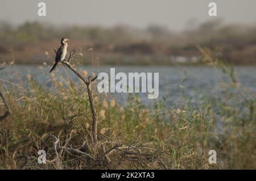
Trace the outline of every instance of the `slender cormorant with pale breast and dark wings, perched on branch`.
[[66, 37], [63, 37], [60, 41], [61, 46], [60, 48], [57, 50], [56, 53], [56, 57], [55, 57], [55, 64], [52, 66], [52, 69], [49, 71], [49, 73], [51, 73], [56, 66], [65, 59], [65, 56], [67, 54], [67, 47], [68, 44], [66, 43], [66, 41], [68, 41], [69, 39], [67, 39]]

